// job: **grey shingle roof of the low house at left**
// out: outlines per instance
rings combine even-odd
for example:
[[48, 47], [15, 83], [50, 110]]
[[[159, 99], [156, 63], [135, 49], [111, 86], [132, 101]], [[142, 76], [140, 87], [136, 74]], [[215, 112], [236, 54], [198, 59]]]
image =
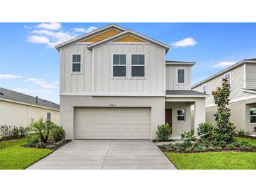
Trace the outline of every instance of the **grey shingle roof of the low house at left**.
[[21, 102], [24, 104], [29, 104], [33, 106], [39, 106], [50, 109], [60, 110], [60, 105], [48, 100], [43, 100], [38, 98], [36, 102], [36, 97], [25, 95], [20, 92], [15, 92], [13, 90], [8, 90], [5, 88], [0, 88], [0, 100], [11, 100], [14, 102]]

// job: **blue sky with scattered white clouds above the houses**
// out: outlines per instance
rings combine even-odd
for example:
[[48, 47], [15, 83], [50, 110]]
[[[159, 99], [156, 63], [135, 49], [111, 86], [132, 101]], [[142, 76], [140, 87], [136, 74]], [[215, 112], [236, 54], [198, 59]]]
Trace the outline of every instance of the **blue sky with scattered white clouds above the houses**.
[[[59, 103], [55, 44], [109, 23], [0, 23], [0, 86]], [[171, 46], [166, 60], [196, 62], [192, 85], [256, 57], [256, 23], [116, 23]]]

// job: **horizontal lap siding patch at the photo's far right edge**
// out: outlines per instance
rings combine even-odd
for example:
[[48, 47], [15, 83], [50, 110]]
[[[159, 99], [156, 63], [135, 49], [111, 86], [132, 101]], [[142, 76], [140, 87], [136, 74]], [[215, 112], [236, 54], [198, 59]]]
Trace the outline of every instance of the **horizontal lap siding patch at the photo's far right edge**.
[[246, 64], [246, 88], [256, 89], [256, 64]]

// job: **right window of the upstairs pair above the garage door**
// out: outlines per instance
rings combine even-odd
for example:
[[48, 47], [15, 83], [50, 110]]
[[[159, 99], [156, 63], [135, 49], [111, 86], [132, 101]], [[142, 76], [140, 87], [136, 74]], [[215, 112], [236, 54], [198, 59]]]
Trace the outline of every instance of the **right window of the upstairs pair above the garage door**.
[[132, 55], [132, 76], [145, 76], [145, 55]]

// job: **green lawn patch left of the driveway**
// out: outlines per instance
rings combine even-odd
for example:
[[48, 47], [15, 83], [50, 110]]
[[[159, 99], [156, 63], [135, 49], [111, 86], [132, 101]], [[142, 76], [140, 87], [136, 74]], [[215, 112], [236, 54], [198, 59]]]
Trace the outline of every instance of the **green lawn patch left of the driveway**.
[[52, 153], [50, 149], [22, 147], [27, 139], [0, 142], [0, 170], [22, 170]]

